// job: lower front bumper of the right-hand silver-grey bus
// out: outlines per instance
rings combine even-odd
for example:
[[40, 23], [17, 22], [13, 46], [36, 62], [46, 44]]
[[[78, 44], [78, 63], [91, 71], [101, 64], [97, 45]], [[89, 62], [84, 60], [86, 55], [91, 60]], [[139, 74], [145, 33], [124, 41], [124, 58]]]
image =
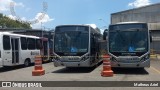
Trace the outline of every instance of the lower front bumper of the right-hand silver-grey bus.
[[150, 67], [150, 60], [145, 60], [139, 63], [119, 63], [111, 61], [112, 67], [122, 67], [122, 68], [143, 68], [143, 67]]

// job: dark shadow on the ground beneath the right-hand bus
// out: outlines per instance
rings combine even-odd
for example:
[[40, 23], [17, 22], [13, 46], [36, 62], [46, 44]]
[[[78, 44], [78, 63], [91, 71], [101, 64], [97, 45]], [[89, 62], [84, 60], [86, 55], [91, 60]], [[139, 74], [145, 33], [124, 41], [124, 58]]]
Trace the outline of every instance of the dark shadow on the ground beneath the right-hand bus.
[[144, 68], [112, 68], [114, 74], [148, 75]]

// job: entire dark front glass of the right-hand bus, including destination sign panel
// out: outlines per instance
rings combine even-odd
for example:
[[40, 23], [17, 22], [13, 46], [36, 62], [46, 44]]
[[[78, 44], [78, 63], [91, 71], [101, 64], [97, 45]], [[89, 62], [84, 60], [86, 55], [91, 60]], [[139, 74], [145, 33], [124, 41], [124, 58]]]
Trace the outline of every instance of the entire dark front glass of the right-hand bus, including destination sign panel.
[[109, 31], [110, 52], [147, 52], [148, 31], [143, 25], [111, 26]]

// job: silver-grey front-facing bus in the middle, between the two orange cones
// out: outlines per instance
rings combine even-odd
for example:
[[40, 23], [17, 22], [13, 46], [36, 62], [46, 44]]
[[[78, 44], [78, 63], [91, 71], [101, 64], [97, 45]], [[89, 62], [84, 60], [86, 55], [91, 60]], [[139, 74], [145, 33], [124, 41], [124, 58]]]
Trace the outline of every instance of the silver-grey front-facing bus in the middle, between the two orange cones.
[[92, 67], [102, 61], [102, 35], [94, 25], [60, 25], [55, 28], [54, 65]]

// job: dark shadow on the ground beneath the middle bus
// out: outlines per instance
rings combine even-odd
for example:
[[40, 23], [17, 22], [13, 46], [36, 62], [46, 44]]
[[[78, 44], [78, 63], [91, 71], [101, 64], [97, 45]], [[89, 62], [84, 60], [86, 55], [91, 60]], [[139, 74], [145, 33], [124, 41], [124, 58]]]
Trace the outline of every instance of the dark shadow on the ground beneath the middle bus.
[[56, 71], [53, 71], [52, 73], [90, 73], [94, 71], [97, 67], [99, 67], [102, 64], [99, 63], [98, 65], [94, 67], [73, 67], [73, 68], [62, 68]]

